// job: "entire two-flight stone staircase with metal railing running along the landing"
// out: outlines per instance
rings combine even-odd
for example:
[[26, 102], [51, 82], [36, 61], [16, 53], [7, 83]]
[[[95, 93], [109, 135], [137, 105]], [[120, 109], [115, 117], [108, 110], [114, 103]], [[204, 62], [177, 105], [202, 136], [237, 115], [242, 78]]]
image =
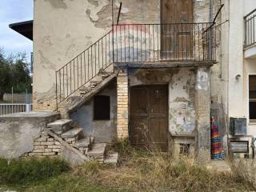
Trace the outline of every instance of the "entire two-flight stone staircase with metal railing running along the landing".
[[[112, 30], [97, 42], [55, 72], [56, 106], [63, 119], [50, 123], [48, 133], [85, 161], [95, 158], [100, 162], [111, 162], [106, 159], [106, 144], [94, 144], [94, 138], [86, 137], [78, 125], [74, 126], [69, 114], [106, 87], [118, 75], [117, 69], [126, 68], [129, 64], [148, 68], [153, 63], [161, 63], [162, 67], [177, 67], [188, 63], [198, 65], [214, 62], [214, 24], [208, 22], [113, 26]], [[166, 43], [181, 46], [174, 46], [174, 50], [168, 50], [167, 47], [164, 49], [160, 42], [169, 40], [163, 38], [163, 29], [184, 34], [173, 42]], [[182, 43], [187, 39], [187, 43]], [[171, 66], [170, 63], [175, 65]], [[118, 155], [111, 156], [115, 162]]]

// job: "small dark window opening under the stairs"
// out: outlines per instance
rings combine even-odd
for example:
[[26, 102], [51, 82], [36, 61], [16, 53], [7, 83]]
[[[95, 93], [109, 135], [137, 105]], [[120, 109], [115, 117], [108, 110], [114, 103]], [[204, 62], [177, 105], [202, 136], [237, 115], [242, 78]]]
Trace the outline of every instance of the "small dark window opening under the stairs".
[[94, 120], [110, 120], [110, 97], [98, 95], [94, 97]]

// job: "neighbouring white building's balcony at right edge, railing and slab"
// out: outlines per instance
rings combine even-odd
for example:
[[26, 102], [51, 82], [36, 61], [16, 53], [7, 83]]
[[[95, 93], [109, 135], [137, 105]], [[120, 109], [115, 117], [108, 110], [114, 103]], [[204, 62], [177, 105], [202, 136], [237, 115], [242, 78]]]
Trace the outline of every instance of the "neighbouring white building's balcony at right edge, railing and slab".
[[245, 42], [244, 42], [244, 57], [256, 58], [256, 34], [255, 34], [255, 18], [256, 9], [251, 11], [244, 17], [245, 23]]

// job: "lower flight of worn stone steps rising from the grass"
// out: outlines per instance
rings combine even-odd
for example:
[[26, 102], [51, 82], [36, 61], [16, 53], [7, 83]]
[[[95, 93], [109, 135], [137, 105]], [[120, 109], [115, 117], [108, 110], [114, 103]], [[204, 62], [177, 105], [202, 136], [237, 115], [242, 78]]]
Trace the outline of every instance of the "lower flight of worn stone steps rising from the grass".
[[118, 154], [106, 154], [106, 143], [94, 143], [94, 137], [86, 137], [78, 123], [71, 119], [58, 119], [47, 125], [48, 134], [85, 162], [95, 159], [101, 163], [116, 165]]

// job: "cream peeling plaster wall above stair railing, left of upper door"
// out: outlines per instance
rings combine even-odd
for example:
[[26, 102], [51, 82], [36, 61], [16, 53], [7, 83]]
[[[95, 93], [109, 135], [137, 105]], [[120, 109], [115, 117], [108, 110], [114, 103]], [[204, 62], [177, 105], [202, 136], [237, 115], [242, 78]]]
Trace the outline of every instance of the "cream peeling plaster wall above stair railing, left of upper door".
[[[119, 1], [114, 0], [114, 22]], [[124, 0], [120, 23], [159, 23], [159, 2]], [[55, 109], [55, 71], [110, 30], [110, 0], [34, 0], [34, 110]]]

